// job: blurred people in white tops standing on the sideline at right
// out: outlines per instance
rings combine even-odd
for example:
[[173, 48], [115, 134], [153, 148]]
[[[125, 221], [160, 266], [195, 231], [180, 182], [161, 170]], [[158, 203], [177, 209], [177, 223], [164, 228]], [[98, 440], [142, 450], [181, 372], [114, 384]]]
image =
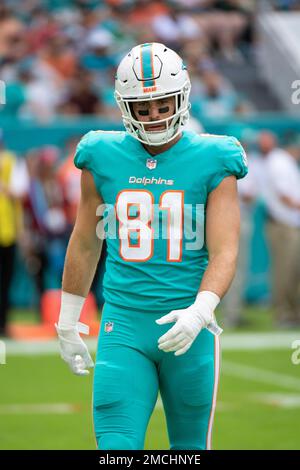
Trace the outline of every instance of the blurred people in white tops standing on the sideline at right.
[[241, 208], [240, 250], [233, 284], [224, 298], [224, 322], [244, 322], [243, 296], [249, 272], [253, 211], [264, 211], [264, 235], [271, 264], [271, 304], [274, 325], [300, 326], [300, 135], [283, 142], [266, 130], [243, 141], [249, 173], [238, 181]]

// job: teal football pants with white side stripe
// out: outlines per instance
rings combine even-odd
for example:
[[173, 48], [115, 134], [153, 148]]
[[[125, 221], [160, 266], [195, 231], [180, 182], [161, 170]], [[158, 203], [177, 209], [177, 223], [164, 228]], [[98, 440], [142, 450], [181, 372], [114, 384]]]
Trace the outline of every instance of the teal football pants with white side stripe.
[[157, 347], [168, 313], [105, 304], [94, 374], [99, 449], [143, 449], [160, 391], [171, 449], [209, 449], [219, 376], [219, 343], [206, 329], [182, 356]]

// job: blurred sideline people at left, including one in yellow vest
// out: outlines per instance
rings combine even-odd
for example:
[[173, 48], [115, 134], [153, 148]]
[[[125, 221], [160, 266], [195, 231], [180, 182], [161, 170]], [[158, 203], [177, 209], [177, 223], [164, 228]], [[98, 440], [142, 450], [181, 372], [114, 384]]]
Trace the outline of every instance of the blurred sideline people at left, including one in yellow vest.
[[7, 323], [17, 249], [39, 299], [47, 289], [46, 275], [61, 282], [80, 194], [80, 171], [73, 164], [78, 140], [67, 142], [62, 160], [54, 146], [17, 158], [0, 134], [0, 334]]

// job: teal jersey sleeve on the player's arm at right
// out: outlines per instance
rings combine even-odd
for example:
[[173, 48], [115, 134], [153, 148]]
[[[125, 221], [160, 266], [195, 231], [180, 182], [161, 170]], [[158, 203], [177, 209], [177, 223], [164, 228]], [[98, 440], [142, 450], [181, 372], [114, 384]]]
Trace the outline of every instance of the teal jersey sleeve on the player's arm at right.
[[220, 139], [215, 153], [215, 171], [210, 178], [208, 190], [213, 191], [227, 176], [244, 178], [248, 173], [246, 152], [235, 137]]

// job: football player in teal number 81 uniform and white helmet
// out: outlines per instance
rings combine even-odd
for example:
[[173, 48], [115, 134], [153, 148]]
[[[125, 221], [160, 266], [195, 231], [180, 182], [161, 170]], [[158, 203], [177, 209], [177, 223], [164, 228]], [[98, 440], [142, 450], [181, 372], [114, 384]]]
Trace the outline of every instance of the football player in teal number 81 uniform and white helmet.
[[234, 276], [236, 179], [247, 165], [235, 138], [184, 130], [190, 87], [174, 51], [134, 47], [115, 84], [126, 131], [89, 132], [75, 155], [81, 201], [57, 332], [63, 359], [79, 375], [93, 366], [77, 322], [101, 250], [97, 208], [105, 203], [117, 224], [116, 236], [106, 233], [94, 373], [99, 449], [143, 449], [159, 391], [171, 449], [211, 447], [219, 339], [209, 330]]

